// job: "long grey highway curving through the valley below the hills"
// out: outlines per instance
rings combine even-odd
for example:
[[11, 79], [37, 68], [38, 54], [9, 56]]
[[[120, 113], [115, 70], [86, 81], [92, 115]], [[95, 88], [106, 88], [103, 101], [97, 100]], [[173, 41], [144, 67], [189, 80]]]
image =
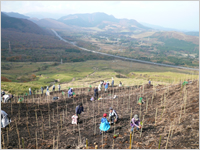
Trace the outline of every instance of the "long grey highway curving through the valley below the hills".
[[96, 51], [93, 51], [93, 50], [89, 50], [89, 49], [86, 49], [86, 48], [83, 48], [83, 47], [79, 47], [77, 46], [74, 42], [69, 42], [65, 39], [63, 39], [60, 35], [58, 35], [58, 33], [51, 29], [55, 35], [62, 41], [66, 42], [66, 43], [69, 43], [69, 44], [72, 44], [84, 51], [88, 51], [88, 52], [92, 52], [92, 53], [97, 53], [97, 54], [101, 54], [101, 55], [106, 55], [106, 56], [111, 56], [111, 57], [115, 57], [115, 58], [119, 58], [119, 59], [123, 59], [123, 60], [128, 60], [128, 61], [133, 61], [133, 62], [139, 62], [139, 63], [145, 63], [145, 64], [151, 64], [151, 65], [157, 65], [157, 66], [164, 66], [164, 67], [172, 67], [172, 68], [179, 68], [179, 69], [187, 69], [187, 70], [194, 70], [194, 71], [199, 71], [199, 69], [195, 69], [195, 68], [188, 68], [188, 67], [181, 67], [181, 66], [174, 66], [174, 65], [167, 65], [167, 64], [161, 64], [161, 63], [154, 63], [154, 62], [149, 62], [149, 61], [144, 61], [144, 60], [138, 60], [138, 59], [133, 59], [133, 58], [126, 58], [126, 57], [122, 57], [122, 56], [117, 56], [117, 55], [112, 55], [112, 54], [107, 54], [107, 53], [102, 53], [102, 52], [96, 52]]

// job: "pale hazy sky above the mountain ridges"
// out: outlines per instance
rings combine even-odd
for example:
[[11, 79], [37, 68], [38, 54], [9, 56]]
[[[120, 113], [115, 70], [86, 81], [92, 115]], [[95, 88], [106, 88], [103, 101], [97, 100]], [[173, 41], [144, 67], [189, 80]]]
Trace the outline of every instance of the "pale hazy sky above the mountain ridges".
[[199, 1], [1, 1], [1, 11], [37, 12], [56, 19], [68, 14], [104, 12], [119, 19], [199, 31]]

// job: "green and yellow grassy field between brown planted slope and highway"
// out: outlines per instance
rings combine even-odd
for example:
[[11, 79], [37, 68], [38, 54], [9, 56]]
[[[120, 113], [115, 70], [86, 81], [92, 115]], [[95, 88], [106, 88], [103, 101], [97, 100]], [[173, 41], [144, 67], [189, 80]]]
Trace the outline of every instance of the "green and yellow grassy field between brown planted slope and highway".
[[121, 81], [124, 86], [146, 84], [149, 79], [153, 84], [170, 84], [189, 78], [198, 78], [198, 72], [194, 71], [122, 60], [89, 60], [63, 64], [55, 62], [2, 62], [1, 67], [1, 76], [12, 81], [2, 81], [1, 89], [12, 94], [25, 94], [29, 87], [35, 91], [41, 86], [58, 85], [58, 83], [61, 84], [61, 89], [72, 86], [98, 86], [100, 80], [111, 82], [112, 77], [115, 79], [115, 84], [118, 85]]

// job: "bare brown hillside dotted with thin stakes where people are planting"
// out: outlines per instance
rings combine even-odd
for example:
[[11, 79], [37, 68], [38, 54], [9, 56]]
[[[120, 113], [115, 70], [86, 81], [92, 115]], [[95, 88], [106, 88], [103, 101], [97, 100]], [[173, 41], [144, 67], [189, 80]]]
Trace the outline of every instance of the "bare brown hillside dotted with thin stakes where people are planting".
[[[108, 93], [100, 92], [102, 99], [96, 101], [90, 101], [93, 90], [88, 88], [75, 88], [75, 98], [66, 98], [67, 91], [62, 92], [65, 94], [27, 96], [22, 103], [16, 103], [16, 98], [11, 103], [1, 103], [1, 109], [12, 119], [9, 129], [2, 130], [2, 148], [85, 148], [87, 139], [89, 149], [95, 145], [127, 149], [134, 114], [139, 115], [143, 128], [132, 135], [131, 148], [157, 149], [159, 145], [161, 149], [199, 148], [198, 80], [189, 80], [184, 87], [180, 83], [110, 87]], [[116, 99], [111, 98], [114, 95]], [[60, 99], [53, 101], [53, 96]], [[141, 107], [137, 104], [139, 97], [145, 101]], [[72, 125], [71, 116], [80, 102], [85, 112], [81, 114], [81, 123]], [[111, 106], [119, 115], [119, 123], [99, 135], [100, 119]], [[118, 134], [116, 139], [114, 134]]]

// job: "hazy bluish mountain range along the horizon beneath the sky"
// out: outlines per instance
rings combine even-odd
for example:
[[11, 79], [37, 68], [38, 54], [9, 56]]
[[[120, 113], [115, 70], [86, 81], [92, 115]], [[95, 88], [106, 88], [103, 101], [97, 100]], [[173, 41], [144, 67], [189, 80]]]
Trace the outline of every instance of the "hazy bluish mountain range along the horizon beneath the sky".
[[[71, 14], [63, 16], [59, 19], [52, 19], [52, 14], [49, 14], [49, 18], [43, 18], [42, 14], [29, 13], [22, 15], [16, 12], [4, 12], [7, 16], [28, 19], [35, 24], [43, 28], [62, 28], [70, 29], [71, 27], [97, 27], [103, 30], [116, 30], [119, 32], [135, 32], [135, 31], [178, 31], [183, 32], [186, 35], [199, 36], [199, 32], [185, 32], [173, 28], [165, 28], [158, 25], [152, 25], [148, 23], [139, 23], [134, 19], [117, 19], [113, 15], [107, 15], [105, 13], [86, 13], [86, 14]], [[48, 16], [45, 13], [44, 16]], [[56, 15], [58, 18], [59, 15]], [[39, 18], [39, 19], [38, 19]], [[55, 18], [55, 16], [54, 16]]]

